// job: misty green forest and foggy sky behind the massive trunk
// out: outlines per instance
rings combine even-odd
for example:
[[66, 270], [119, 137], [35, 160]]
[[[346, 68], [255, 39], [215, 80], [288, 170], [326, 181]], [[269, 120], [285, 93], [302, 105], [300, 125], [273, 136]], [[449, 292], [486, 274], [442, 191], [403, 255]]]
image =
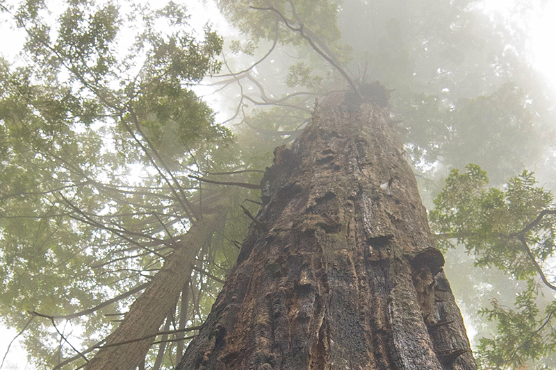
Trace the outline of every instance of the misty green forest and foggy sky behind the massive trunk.
[[25, 40], [0, 58], [3, 324], [37, 369], [76, 369], [158, 286], [140, 368], [173, 369], [274, 149], [316, 101], [384, 86], [482, 369], [555, 368], [556, 100], [528, 33], [547, 4], [0, 1]]

